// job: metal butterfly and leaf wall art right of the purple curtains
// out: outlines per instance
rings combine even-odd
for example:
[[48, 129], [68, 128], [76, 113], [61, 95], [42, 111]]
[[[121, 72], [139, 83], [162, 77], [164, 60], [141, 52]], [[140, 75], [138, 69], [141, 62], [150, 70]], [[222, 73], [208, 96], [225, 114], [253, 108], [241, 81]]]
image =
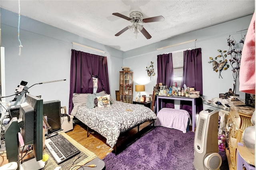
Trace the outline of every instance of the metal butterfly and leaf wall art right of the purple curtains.
[[[210, 61], [208, 61], [208, 63], [212, 63], [213, 65], [213, 71], [215, 71], [216, 73], [219, 72], [219, 78], [221, 76], [221, 71], [222, 70], [226, 70], [229, 68], [229, 65], [227, 64], [228, 63], [228, 60], [226, 59], [227, 57], [227, 54], [225, 54], [227, 51], [222, 51], [220, 49], [218, 49], [217, 51], [220, 52], [220, 55], [217, 55], [214, 59], [212, 57], [209, 57], [210, 58]], [[222, 57], [220, 60], [217, 60], [218, 58]], [[223, 79], [223, 78], [222, 78]]]

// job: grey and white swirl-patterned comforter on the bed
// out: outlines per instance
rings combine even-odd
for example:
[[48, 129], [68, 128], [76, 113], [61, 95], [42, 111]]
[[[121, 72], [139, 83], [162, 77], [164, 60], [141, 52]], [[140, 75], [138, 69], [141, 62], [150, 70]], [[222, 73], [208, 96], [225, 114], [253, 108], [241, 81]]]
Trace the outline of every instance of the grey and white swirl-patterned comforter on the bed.
[[76, 118], [82, 123], [104, 136], [111, 148], [114, 147], [120, 132], [150, 119], [156, 114], [144, 105], [134, 105], [113, 101], [110, 107], [89, 109], [80, 105]]

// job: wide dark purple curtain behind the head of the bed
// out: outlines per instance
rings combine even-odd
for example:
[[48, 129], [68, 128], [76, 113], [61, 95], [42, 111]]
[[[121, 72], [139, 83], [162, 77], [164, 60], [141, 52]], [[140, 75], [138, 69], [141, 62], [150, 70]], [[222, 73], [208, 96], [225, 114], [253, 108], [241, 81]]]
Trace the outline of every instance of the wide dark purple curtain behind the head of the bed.
[[98, 78], [97, 92], [110, 94], [107, 57], [71, 50], [69, 113], [73, 109], [73, 93], [93, 93], [92, 77]]

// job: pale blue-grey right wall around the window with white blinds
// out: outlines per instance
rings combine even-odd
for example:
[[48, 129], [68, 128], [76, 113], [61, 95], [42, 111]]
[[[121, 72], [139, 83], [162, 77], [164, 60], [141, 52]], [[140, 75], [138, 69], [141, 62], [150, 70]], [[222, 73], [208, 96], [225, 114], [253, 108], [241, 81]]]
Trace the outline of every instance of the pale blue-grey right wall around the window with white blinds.
[[[227, 38], [229, 35], [234, 38], [237, 42], [246, 34], [248, 26], [250, 24], [252, 15], [238, 18], [229, 22], [176, 36], [174, 38], [164, 40], [155, 44], [151, 44], [150, 48], [140, 47], [136, 50], [126, 51], [124, 53], [124, 63], [126, 66], [131, 67], [134, 71], [134, 85], [136, 84], [145, 84], [145, 92], [147, 96], [152, 94], [153, 88], [156, 85], [157, 81], [157, 71], [156, 75], [153, 78], [153, 81], [150, 81], [146, 73], [146, 66], [150, 65], [150, 61], [154, 62], [154, 68], [157, 70], [157, 55], [163, 53], [170, 53], [173, 51], [178, 51], [188, 48], [202, 48], [202, 73], [203, 73], [203, 95], [204, 99], [209, 100], [213, 97], [218, 97], [219, 93], [228, 92], [229, 88], [233, 89], [233, 76], [232, 68], [230, 67], [227, 70], [222, 71], [221, 75], [223, 77], [219, 78], [218, 73], [213, 71], [212, 63], [209, 57], [216, 57], [220, 53], [217, 51], [221, 49], [222, 51], [228, 50]], [[245, 30], [242, 31], [241, 30]], [[181, 42], [186, 42], [189, 40], [196, 39], [196, 42], [186, 43], [182, 45], [177, 45], [174, 47], [169, 47], [168, 49], [162, 49], [157, 51], [156, 48], [165, 47], [168, 45], [173, 45]], [[136, 54], [138, 53], [138, 55]], [[228, 55], [227, 59], [230, 57]], [[237, 79], [237, 88], [236, 92], [244, 99], [245, 95], [242, 92], [239, 92], [239, 78]], [[135, 91], [135, 87], [134, 87]], [[134, 93], [134, 99], [137, 95], [137, 92]]]

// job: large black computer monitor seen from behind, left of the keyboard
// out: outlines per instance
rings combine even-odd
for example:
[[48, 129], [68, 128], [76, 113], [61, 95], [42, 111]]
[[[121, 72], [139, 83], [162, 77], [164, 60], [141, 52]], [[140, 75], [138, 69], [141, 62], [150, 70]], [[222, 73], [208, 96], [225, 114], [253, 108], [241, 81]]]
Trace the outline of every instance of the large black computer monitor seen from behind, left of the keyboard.
[[33, 145], [37, 161], [43, 156], [43, 99], [26, 95], [26, 102], [20, 104], [20, 118], [23, 121], [21, 134], [25, 145]]

